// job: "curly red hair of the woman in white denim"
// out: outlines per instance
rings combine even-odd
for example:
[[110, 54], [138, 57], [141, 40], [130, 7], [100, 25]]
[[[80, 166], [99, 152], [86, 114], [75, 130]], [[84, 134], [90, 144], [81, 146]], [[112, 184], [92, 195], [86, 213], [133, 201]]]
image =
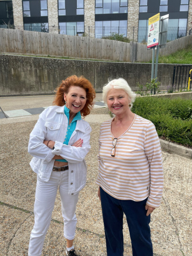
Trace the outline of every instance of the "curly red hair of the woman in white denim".
[[84, 108], [81, 110], [81, 116], [87, 116], [90, 114], [91, 109], [93, 108], [93, 99], [96, 97], [95, 90], [93, 85], [89, 80], [84, 78], [84, 76], [69, 76], [67, 79], [63, 80], [61, 84], [55, 89], [55, 99], [53, 105], [64, 106], [64, 93], [68, 93], [71, 86], [79, 86], [86, 91], [86, 103]]

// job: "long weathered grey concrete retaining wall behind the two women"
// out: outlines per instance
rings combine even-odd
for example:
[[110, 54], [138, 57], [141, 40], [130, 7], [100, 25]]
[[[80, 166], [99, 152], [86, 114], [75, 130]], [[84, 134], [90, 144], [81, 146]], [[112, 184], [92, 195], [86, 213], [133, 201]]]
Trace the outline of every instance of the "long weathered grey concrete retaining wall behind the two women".
[[[172, 85], [175, 64], [158, 64], [160, 90]], [[67, 76], [83, 75], [101, 92], [108, 78], [122, 77], [132, 90], [151, 80], [151, 64], [82, 61], [0, 54], [0, 96], [53, 93]]]

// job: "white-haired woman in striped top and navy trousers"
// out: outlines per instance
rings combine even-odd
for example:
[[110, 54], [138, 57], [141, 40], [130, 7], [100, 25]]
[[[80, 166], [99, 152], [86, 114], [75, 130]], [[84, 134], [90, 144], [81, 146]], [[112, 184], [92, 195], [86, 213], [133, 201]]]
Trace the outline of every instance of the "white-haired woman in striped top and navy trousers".
[[160, 206], [163, 164], [154, 124], [131, 112], [136, 94], [127, 81], [103, 87], [103, 100], [115, 115], [99, 134], [99, 185], [108, 256], [123, 255], [123, 213], [133, 256], [152, 256], [150, 214]]

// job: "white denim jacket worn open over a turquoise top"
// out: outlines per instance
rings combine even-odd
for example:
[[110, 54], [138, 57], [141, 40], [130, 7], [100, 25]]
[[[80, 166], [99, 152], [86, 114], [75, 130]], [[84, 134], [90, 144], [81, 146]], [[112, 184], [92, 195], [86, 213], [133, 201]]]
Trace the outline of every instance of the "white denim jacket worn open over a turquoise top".
[[[28, 145], [28, 152], [33, 156], [30, 166], [38, 173], [41, 180], [48, 181], [52, 172], [55, 155], [60, 155], [68, 161], [69, 180], [68, 193], [73, 195], [84, 188], [87, 177], [85, 156], [90, 150], [89, 123], [83, 119], [77, 120], [75, 131], [70, 137], [68, 145], [63, 144], [67, 132], [68, 119], [64, 114], [64, 106], [51, 106], [44, 110], [33, 128]], [[83, 139], [82, 147], [72, 146], [79, 139]], [[55, 141], [55, 148], [48, 148], [44, 140]]]

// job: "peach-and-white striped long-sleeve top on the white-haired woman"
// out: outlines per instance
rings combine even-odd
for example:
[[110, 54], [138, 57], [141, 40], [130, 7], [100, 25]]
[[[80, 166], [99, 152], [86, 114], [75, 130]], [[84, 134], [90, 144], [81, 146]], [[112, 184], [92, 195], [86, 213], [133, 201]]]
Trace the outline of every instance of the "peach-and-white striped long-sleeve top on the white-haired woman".
[[159, 207], [163, 192], [163, 163], [159, 137], [154, 124], [135, 115], [131, 126], [117, 138], [115, 157], [111, 156], [111, 122], [102, 123], [99, 136], [99, 174], [96, 184], [121, 200], [142, 201]]

